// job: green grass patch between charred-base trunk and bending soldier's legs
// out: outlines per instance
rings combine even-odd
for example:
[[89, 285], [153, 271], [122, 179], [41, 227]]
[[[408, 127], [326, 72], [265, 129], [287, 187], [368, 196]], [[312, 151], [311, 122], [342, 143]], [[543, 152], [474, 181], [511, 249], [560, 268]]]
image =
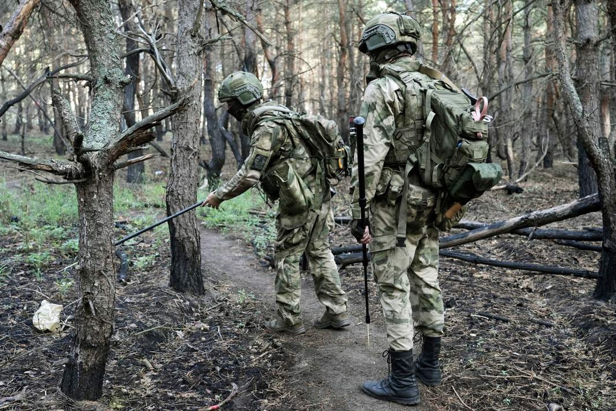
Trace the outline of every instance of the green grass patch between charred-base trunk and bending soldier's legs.
[[[222, 232], [235, 232], [252, 243], [262, 255], [276, 238], [275, 208], [265, 204], [257, 190], [248, 190], [224, 201], [219, 210], [203, 207], [198, 215], [205, 226]], [[256, 212], [256, 213], [255, 213]]]

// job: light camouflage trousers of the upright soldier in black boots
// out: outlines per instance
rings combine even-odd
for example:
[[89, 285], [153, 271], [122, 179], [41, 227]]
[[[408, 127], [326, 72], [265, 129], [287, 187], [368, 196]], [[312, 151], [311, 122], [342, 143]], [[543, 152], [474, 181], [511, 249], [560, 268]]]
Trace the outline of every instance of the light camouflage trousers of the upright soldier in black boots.
[[407, 210], [405, 246], [395, 245], [398, 206], [375, 200], [371, 204], [370, 258], [383, 307], [389, 348], [413, 348], [413, 322], [425, 336], [443, 335], [443, 297], [437, 278], [439, 230], [426, 223], [430, 210]]

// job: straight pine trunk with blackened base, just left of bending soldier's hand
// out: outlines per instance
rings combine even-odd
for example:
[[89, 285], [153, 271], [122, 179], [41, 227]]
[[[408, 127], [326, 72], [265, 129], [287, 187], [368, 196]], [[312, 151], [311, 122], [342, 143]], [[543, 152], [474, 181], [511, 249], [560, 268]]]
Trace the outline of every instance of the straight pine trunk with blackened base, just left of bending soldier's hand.
[[[201, 67], [203, 30], [197, 0], [178, 2], [177, 74], [174, 101], [189, 96], [186, 109], [172, 116], [171, 168], [167, 183], [167, 214], [177, 213], [197, 202], [199, 140], [201, 137]], [[197, 20], [197, 21], [195, 21]], [[201, 236], [194, 211], [169, 221], [171, 235], [171, 288], [203, 294]]]

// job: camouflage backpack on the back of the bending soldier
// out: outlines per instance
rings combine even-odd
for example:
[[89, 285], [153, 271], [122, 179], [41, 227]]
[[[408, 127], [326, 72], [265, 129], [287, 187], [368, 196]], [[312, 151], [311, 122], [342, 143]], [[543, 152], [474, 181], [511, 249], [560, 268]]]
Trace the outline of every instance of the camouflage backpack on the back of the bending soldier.
[[264, 105], [253, 110], [248, 129], [253, 130], [264, 121], [278, 121], [289, 132], [292, 141], [302, 140], [314, 159], [317, 177], [324, 176], [330, 186], [351, 174], [351, 151], [342, 140], [335, 121], [320, 115], [294, 112], [282, 105]]

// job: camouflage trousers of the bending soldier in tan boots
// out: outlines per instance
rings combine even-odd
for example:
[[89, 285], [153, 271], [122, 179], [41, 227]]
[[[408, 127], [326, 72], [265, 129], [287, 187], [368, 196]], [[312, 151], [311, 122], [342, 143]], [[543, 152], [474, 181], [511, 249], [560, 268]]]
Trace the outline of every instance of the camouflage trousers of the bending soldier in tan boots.
[[326, 200], [317, 211], [309, 210], [292, 216], [278, 214], [276, 218], [274, 289], [278, 315], [286, 324], [301, 322], [299, 259], [304, 251], [318, 301], [332, 314], [347, 311], [347, 296], [340, 285], [338, 267], [328, 238], [330, 214], [330, 201]]

